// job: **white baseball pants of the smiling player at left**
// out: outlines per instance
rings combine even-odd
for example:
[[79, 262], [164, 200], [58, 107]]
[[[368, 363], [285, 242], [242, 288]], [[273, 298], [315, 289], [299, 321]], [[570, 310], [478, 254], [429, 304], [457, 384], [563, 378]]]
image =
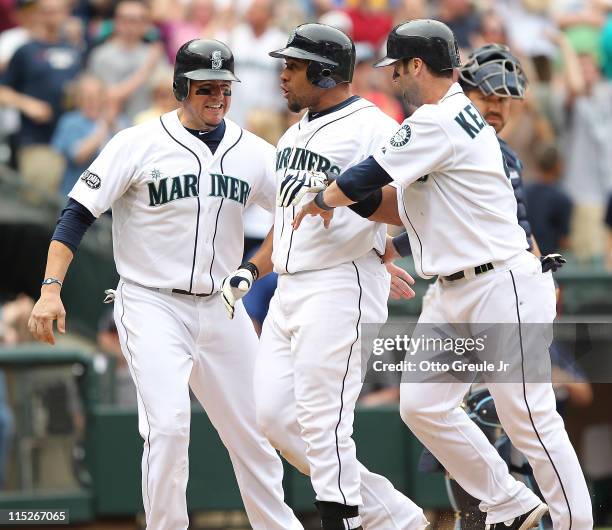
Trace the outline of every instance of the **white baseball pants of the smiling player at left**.
[[252, 527], [303, 529], [283, 501], [282, 462], [255, 423], [257, 336], [242, 304], [230, 321], [217, 295], [164, 294], [121, 280], [115, 321], [137, 390], [147, 530], [189, 524], [189, 387], [229, 452]]

